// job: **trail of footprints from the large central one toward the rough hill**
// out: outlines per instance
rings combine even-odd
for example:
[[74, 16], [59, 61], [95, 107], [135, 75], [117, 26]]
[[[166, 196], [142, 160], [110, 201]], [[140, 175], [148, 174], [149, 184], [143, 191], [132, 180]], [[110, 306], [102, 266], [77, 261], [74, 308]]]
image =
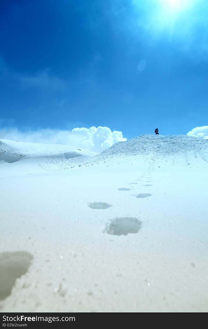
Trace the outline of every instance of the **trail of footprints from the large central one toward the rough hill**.
[[[150, 168], [151, 169], [151, 168]], [[145, 174], [145, 173], [144, 173]], [[131, 185], [133, 188], [133, 185], [138, 184], [137, 182], [142, 182], [143, 179], [145, 179], [144, 174], [140, 176], [139, 178], [136, 178], [136, 182], [128, 183], [128, 185]], [[150, 176], [150, 171], [148, 171], [148, 177], [146, 177], [147, 181], [146, 183], [151, 182], [151, 176]], [[145, 184], [143, 185], [145, 187], [150, 187], [152, 184]], [[132, 190], [129, 188], [121, 187], [118, 188], [118, 191], [130, 191]], [[148, 198], [152, 194], [150, 193], [139, 193], [132, 195], [133, 197], [136, 198]], [[92, 202], [88, 204], [88, 207], [92, 209], [107, 209], [109, 207], [112, 207], [112, 205], [105, 203], [105, 202]], [[108, 233], [111, 235], [127, 235], [129, 233], [138, 233], [142, 225], [142, 222], [138, 218], [134, 217], [116, 217], [111, 219], [108, 223], [106, 223], [105, 228], [104, 228], [104, 233]]]

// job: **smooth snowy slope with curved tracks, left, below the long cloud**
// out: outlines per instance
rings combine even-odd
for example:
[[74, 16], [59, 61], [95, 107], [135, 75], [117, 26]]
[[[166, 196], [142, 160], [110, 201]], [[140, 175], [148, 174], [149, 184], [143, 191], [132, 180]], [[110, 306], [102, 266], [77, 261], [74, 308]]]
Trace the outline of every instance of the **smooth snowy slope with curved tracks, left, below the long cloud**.
[[[68, 145], [39, 144], [0, 139], [0, 175], [63, 170], [96, 153]], [[9, 165], [8, 165], [9, 164]]]

